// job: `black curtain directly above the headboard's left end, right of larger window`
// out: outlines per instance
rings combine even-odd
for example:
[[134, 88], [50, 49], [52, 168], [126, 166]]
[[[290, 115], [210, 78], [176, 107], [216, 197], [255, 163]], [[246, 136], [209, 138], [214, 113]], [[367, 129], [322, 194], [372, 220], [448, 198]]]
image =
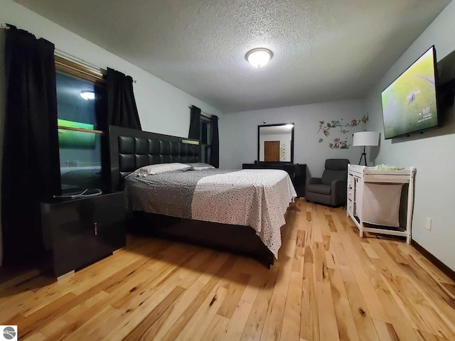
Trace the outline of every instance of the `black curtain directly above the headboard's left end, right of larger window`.
[[123, 126], [141, 130], [132, 77], [108, 67], [106, 83], [107, 126]]

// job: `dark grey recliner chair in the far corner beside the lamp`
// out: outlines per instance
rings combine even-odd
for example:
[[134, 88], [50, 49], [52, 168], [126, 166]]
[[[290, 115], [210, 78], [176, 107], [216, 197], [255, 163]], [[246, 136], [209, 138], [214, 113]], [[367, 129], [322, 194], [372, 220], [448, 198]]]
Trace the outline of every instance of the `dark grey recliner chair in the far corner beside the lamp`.
[[346, 158], [327, 159], [322, 177], [306, 180], [305, 200], [331, 206], [346, 205], [348, 163]]

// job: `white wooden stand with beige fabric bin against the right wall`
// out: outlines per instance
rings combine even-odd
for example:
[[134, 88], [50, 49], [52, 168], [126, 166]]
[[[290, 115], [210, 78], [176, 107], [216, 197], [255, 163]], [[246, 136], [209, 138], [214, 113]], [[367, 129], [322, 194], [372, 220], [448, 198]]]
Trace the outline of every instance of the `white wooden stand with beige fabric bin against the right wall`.
[[[415, 168], [401, 171], [375, 171], [365, 166], [348, 165], [348, 200], [346, 215], [351, 217], [355, 225], [359, 229], [360, 237], [363, 237], [363, 232], [373, 232], [380, 234], [391, 234], [394, 236], [406, 237], [407, 244], [411, 242], [411, 225], [412, 225], [412, 207], [414, 202], [414, 172]], [[368, 186], [369, 184], [375, 184], [378, 186], [384, 185], [382, 188], [378, 186]], [[368, 226], [365, 226], [365, 213], [368, 212], [381, 212], [384, 207], [380, 205], [390, 205], [390, 202], [395, 200], [398, 206], [402, 200], [406, 200], [405, 197], [401, 196], [400, 190], [397, 190], [393, 186], [387, 187], [385, 185], [393, 184], [407, 184], [407, 205], [406, 205], [406, 223], [405, 226], [398, 226], [397, 224], [380, 224], [371, 221], [371, 217], [368, 220]], [[365, 188], [365, 185], [368, 188]], [[377, 192], [380, 188], [382, 192], [382, 199], [375, 197], [375, 189]], [[384, 190], [387, 191], [390, 188], [390, 193], [395, 193], [399, 197], [387, 197], [384, 199]], [[392, 189], [394, 189], [392, 191]], [[398, 193], [398, 194], [397, 194]], [[386, 200], [386, 201], [385, 201]], [[382, 201], [382, 204], [381, 204]], [[373, 207], [372, 205], [375, 205]], [[395, 207], [399, 211], [400, 207]], [[391, 210], [392, 211], [392, 210]], [[398, 211], [396, 212], [398, 217]], [[389, 217], [390, 218], [390, 217]], [[374, 220], [374, 219], [373, 219]], [[394, 227], [395, 225], [395, 227]]]

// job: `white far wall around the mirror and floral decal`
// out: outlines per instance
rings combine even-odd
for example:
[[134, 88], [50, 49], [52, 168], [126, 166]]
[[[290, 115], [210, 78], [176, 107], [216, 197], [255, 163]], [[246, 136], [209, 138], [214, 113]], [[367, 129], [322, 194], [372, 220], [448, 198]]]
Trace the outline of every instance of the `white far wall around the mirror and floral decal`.
[[257, 126], [264, 122], [295, 124], [294, 163], [306, 163], [311, 175], [322, 174], [326, 158], [348, 158], [358, 163], [360, 147], [331, 149], [328, 138], [346, 136], [352, 144], [352, 133], [362, 131], [363, 125], [350, 129], [348, 134], [338, 133], [339, 128], [331, 129], [331, 135], [319, 143], [323, 136], [318, 133], [319, 121], [348, 122], [361, 119], [365, 113], [362, 101], [351, 100], [225, 114], [220, 124], [220, 168], [242, 168], [242, 163], [257, 160]]

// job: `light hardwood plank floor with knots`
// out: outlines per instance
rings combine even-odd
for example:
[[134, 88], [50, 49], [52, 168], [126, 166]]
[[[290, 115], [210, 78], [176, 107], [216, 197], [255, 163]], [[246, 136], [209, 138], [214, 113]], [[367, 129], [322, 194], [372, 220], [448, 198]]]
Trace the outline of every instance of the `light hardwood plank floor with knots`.
[[22, 340], [455, 340], [455, 284], [409, 245], [304, 200], [282, 234], [271, 270], [129, 236], [72, 278], [0, 283], [0, 324]]

